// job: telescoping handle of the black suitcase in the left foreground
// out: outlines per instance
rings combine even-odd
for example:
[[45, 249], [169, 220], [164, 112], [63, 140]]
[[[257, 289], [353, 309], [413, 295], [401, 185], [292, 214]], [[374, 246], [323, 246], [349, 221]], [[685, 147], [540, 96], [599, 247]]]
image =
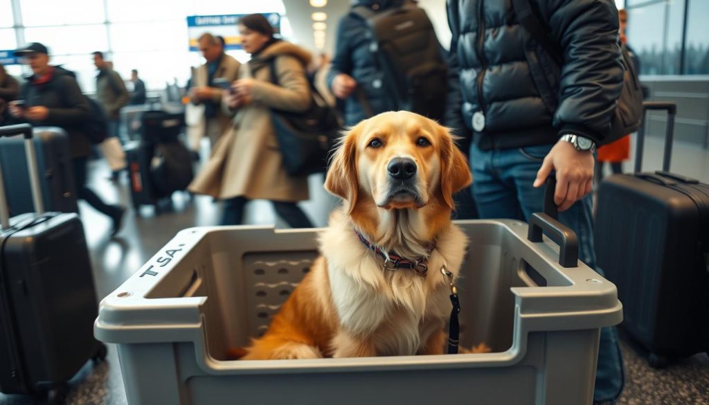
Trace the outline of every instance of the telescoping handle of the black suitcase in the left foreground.
[[[27, 165], [30, 171], [32, 200], [35, 204], [35, 212], [38, 215], [41, 215], [44, 213], [44, 202], [42, 200], [40, 175], [37, 168], [37, 152], [35, 150], [35, 143], [32, 140], [32, 126], [30, 126], [30, 124], [21, 123], [18, 125], [0, 127], [0, 138], [13, 135], [23, 135], [25, 138], [25, 153], [27, 155]], [[7, 194], [3, 180], [2, 167], [0, 167], [0, 223], [2, 228], [8, 228], [10, 226], [10, 211], [7, 207]]]

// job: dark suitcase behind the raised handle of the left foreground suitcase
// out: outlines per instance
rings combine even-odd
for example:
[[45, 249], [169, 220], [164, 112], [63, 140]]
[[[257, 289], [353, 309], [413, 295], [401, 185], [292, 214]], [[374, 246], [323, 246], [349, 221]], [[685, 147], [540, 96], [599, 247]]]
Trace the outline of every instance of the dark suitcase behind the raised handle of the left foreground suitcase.
[[[35, 150], [46, 211], [79, 212], [69, 135], [61, 128], [34, 128]], [[27, 155], [21, 138], [0, 139], [10, 216], [34, 212]]]

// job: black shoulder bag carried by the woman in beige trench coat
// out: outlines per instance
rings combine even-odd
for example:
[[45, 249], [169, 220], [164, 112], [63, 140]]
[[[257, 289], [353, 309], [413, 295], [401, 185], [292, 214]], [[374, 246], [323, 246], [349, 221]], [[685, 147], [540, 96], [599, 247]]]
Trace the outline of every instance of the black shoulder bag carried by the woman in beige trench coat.
[[[269, 63], [271, 80], [279, 84], [276, 60]], [[271, 109], [276, 139], [283, 156], [286, 172], [303, 176], [328, 170], [328, 154], [337, 139], [340, 123], [337, 114], [310, 82], [311, 106], [307, 111], [294, 112]]]

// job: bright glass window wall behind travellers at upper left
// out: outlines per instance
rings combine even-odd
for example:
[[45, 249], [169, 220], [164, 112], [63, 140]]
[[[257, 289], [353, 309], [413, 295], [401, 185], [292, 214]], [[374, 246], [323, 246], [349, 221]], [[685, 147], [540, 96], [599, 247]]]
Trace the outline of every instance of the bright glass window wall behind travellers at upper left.
[[[203, 63], [199, 52], [189, 52], [186, 17], [212, 14], [277, 12], [284, 16], [282, 0], [249, 2], [191, 0], [0, 0], [0, 49], [14, 49], [16, 28], [12, 4], [22, 13], [26, 43], [40, 42], [50, 48], [52, 63], [77, 74], [82, 90], [96, 87], [96, 68], [91, 52], [106, 52], [116, 72], [128, 79], [138, 69], [148, 89], [162, 89], [175, 79], [184, 86], [190, 67]], [[76, 10], [81, 10], [77, 13]], [[4, 29], [7, 28], [7, 29]], [[292, 29], [281, 18], [281, 34], [289, 38]], [[19, 44], [23, 45], [23, 44]], [[241, 62], [249, 59], [242, 50], [228, 54]], [[13, 66], [13, 72], [21, 70]]]

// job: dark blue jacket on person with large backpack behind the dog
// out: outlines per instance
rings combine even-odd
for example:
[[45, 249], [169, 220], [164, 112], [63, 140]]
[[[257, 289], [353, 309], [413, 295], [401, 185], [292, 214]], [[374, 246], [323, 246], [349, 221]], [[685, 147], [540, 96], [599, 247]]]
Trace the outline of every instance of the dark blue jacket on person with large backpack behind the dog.
[[[353, 7], [364, 5], [370, 8], [376, 4], [379, 10], [390, 9], [401, 4], [400, 0], [362, 0], [353, 4]], [[396, 109], [396, 103], [387, 94], [385, 86], [382, 84], [382, 74], [377, 68], [374, 53], [369, 50], [372, 43], [367, 38], [367, 23], [355, 16], [347, 13], [340, 19], [337, 26], [337, 42], [335, 43], [335, 57], [333, 66], [328, 73], [328, 88], [333, 88], [333, 79], [340, 73], [349, 74], [357, 81], [357, 86], [364, 90], [366, 98], [375, 115], [384, 111]], [[378, 86], [378, 87], [377, 87]], [[359, 102], [357, 90], [345, 100], [345, 125], [351, 126], [364, 118], [368, 118], [364, 112], [364, 107]]]

